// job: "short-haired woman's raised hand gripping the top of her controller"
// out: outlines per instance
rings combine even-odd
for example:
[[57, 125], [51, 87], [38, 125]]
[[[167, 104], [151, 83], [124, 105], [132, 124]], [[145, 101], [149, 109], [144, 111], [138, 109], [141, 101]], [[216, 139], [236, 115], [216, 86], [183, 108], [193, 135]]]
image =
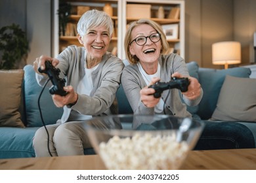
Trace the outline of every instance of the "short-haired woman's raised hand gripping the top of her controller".
[[56, 65], [58, 65], [58, 62], [59, 62], [58, 59], [42, 55], [39, 58], [36, 58], [35, 61], [33, 62], [33, 70], [35, 71], [35, 73], [39, 75], [45, 75], [43, 73], [39, 73], [38, 69], [40, 67], [42, 71], [45, 70], [45, 61], [47, 60], [50, 61], [54, 67], [56, 67]]

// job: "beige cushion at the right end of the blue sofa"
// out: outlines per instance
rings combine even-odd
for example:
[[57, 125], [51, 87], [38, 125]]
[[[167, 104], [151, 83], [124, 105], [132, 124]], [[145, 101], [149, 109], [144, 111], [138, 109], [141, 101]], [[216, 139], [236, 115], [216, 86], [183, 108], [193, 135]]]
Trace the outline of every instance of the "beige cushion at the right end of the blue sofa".
[[256, 122], [256, 79], [226, 76], [211, 120]]

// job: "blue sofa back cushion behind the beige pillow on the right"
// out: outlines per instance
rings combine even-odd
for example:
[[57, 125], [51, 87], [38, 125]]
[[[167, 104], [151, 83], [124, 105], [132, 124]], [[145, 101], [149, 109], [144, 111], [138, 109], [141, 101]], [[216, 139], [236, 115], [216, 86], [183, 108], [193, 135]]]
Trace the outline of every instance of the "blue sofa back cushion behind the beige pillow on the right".
[[199, 82], [203, 88], [203, 98], [198, 108], [198, 115], [203, 120], [211, 118], [216, 108], [219, 92], [226, 75], [241, 78], [249, 78], [251, 70], [245, 67], [234, 67], [231, 69], [198, 69]]

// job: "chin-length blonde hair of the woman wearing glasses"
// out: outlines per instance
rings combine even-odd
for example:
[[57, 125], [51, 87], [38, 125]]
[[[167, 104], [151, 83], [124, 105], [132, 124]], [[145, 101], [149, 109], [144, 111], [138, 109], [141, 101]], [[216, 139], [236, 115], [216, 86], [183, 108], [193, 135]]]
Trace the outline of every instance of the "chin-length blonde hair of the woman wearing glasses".
[[126, 55], [126, 58], [128, 59], [129, 63], [131, 64], [135, 64], [137, 63], [137, 61], [139, 61], [139, 59], [137, 58], [137, 56], [132, 56], [131, 53], [130, 53], [130, 50], [129, 50], [129, 46], [130, 46], [130, 43], [132, 41], [132, 37], [131, 37], [131, 33], [133, 31], [133, 29], [135, 27], [137, 27], [138, 25], [143, 25], [143, 24], [148, 24], [150, 25], [151, 27], [153, 27], [154, 29], [156, 29], [156, 31], [158, 33], [160, 33], [161, 35], [161, 54], [166, 54], [168, 49], [169, 49], [169, 44], [166, 40], [166, 36], [165, 36], [165, 33], [163, 32], [163, 29], [161, 28], [161, 25], [152, 21], [152, 20], [149, 20], [149, 19], [140, 19], [140, 20], [137, 20], [135, 22], [131, 22], [131, 24], [129, 24], [129, 27], [125, 33], [125, 43], [124, 43], [124, 46], [125, 46], [125, 55]]

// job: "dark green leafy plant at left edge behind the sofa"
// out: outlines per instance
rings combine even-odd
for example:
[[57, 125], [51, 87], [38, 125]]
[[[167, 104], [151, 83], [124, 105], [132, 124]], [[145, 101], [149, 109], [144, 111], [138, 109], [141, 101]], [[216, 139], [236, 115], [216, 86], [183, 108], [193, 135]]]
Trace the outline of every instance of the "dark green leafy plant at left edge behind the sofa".
[[0, 29], [0, 69], [18, 69], [28, 56], [28, 39], [19, 25], [12, 24]]

